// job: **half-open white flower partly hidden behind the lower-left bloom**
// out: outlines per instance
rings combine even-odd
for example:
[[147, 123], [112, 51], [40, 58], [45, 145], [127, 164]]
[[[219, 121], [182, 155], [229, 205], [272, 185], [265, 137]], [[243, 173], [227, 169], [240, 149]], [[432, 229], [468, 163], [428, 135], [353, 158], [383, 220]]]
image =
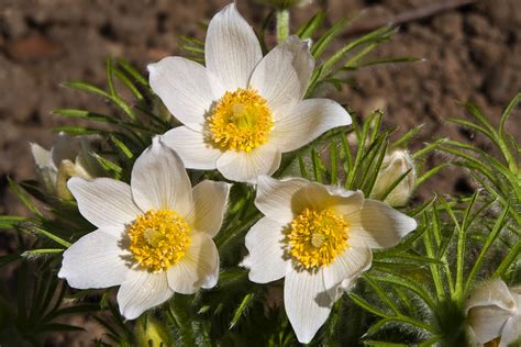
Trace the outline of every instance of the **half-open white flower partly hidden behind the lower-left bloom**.
[[31, 143], [31, 152], [38, 181], [46, 193], [53, 197], [71, 198], [67, 180], [73, 176], [92, 178], [102, 174], [90, 154], [90, 144], [86, 137], [78, 139], [59, 133], [51, 150]]

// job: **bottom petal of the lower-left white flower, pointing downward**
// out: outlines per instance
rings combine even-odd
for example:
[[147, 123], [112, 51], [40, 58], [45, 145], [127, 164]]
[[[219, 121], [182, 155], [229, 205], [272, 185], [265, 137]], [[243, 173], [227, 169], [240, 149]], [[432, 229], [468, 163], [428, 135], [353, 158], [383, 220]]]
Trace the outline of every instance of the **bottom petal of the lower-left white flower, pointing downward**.
[[170, 299], [173, 294], [165, 271], [148, 272], [137, 269], [129, 271], [126, 281], [118, 291], [117, 300], [121, 314], [128, 320], [135, 320], [146, 310]]

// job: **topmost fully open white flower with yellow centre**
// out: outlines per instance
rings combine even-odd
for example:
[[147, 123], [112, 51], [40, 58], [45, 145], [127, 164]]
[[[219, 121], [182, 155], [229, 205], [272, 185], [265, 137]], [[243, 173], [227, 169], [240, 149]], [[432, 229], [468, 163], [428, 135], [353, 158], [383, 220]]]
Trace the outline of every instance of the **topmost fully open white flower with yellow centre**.
[[165, 134], [188, 168], [255, 182], [325, 131], [351, 124], [329, 99], [302, 100], [314, 59], [289, 37], [264, 58], [252, 27], [230, 3], [208, 27], [206, 67], [181, 57], [148, 66], [152, 89], [184, 126]]

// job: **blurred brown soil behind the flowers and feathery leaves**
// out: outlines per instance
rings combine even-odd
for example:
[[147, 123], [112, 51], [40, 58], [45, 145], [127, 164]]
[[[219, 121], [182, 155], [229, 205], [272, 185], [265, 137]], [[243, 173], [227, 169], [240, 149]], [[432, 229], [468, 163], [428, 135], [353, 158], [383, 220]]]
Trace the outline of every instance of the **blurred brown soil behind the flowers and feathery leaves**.
[[[124, 57], [145, 71], [146, 64], [179, 54], [180, 35], [203, 40], [199, 22], [208, 21], [228, 2], [0, 0], [0, 213], [26, 214], [8, 192], [8, 177], [34, 178], [29, 143], [48, 148], [54, 136], [51, 128], [67, 123], [52, 115], [53, 109], [110, 112], [102, 101], [62, 88], [60, 82], [86, 80], [104, 86], [104, 59], [110, 56]], [[269, 13], [254, 1], [236, 2], [257, 29]], [[424, 58], [356, 71], [350, 76], [348, 88], [325, 91], [356, 116], [385, 109], [385, 123], [398, 125], [400, 133], [424, 124], [413, 146], [446, 136], [479, 144], [479, 136], [446, 123], [451, 116], [465, 116], [459, 102], [472, 99], [497, 121], [502, 108], [521, 91], [520, 0], [319, 0], [292, 12], [292, 29], [320, 8], [326, 10], [328, 25], [344, 16], [356, 18], [336, 45], [399, 22], [399, 33], [375, 56]], [[518, 138], [519, 116], [518, 110], [509, 124]], [[432, 191], [458, 193], [472, 190], [473, 182], [465, 172], [445, 170], [432, 187]], [[0, 244], [0, 254], [9, 248]], [[82, 334], [74, 340], [88, 345], [93, 337]], [[71, 339], [62, 337], [55, 344], [69, 346]]]

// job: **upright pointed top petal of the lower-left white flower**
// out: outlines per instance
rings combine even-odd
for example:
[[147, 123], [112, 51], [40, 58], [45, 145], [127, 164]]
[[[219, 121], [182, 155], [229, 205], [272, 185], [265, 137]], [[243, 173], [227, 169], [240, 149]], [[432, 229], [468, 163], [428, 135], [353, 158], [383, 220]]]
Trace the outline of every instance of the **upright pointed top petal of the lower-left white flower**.
[[186, 215], [192, 209], [191, 183], [179, 156], [158, 136], [135, 160], [132, 197], [143, 210], [175, 210]]

